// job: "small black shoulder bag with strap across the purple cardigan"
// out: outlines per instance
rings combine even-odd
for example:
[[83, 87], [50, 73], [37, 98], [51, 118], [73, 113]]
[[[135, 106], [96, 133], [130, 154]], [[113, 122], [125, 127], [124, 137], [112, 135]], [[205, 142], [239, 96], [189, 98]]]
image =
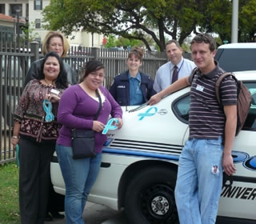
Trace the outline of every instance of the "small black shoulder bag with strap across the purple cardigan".
[[[100, 97], [98, 90], [96, 90], [98, 96], [99, 106], [98, 111], [94, 116], [94, 121], [97, 120], [98, 114], [102, 109], [102, 98]], [[94, 130], [71, 130], [71, 141], [73, 158], [92, 158], [96, 155], [95, 153], [95, 139]]]

